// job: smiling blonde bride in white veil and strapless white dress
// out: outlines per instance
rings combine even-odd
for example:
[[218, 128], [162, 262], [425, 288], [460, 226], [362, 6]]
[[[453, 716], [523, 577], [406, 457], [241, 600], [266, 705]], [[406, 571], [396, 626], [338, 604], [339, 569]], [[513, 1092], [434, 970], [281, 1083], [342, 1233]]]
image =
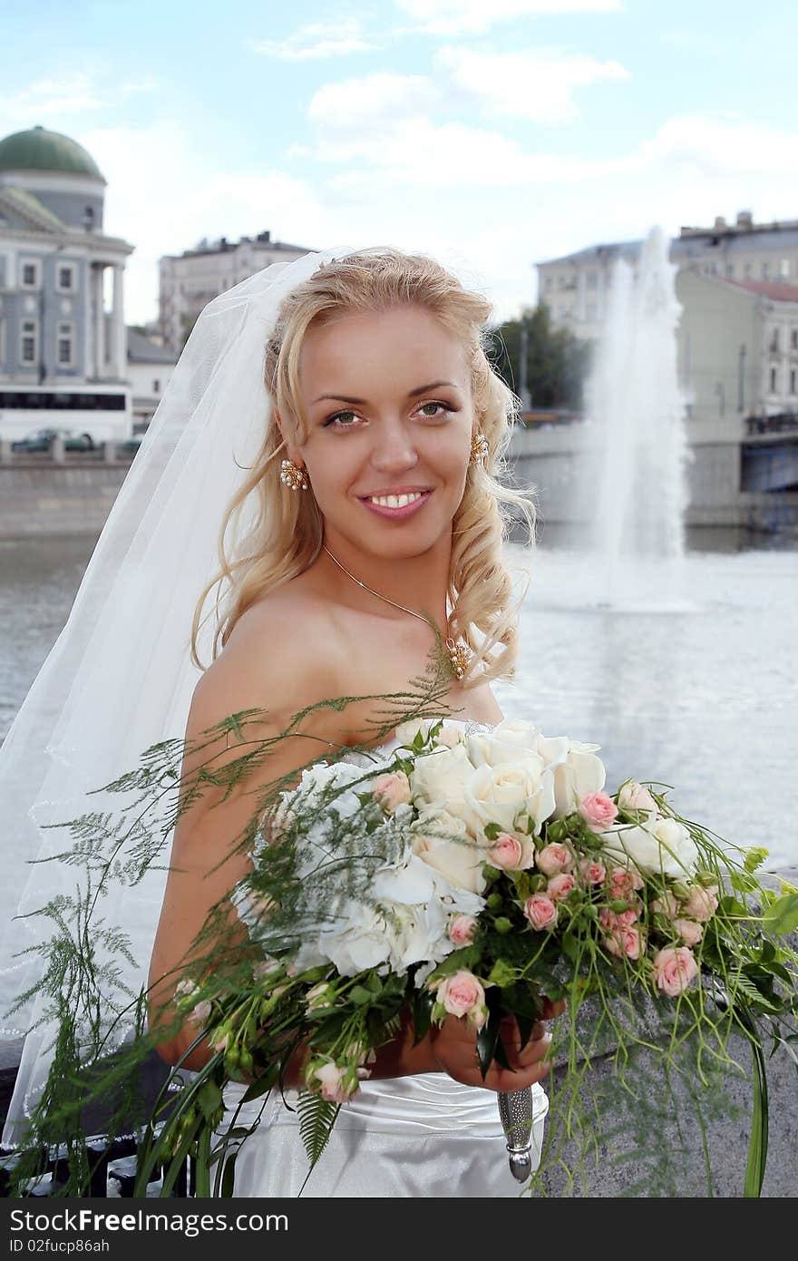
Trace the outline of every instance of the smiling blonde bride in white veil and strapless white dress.
[[[242, 299], [238, 306], [232, 300], [236, 294]], [[232, 324], [214, 323], [214, 314], [229, 317], [231, 310]], [[514, 400], [485, 356], [489, 313], [482, 296], [465, 290], [432, 260], [390, 248], [329, 252], [271, 267], [207, 308], [183, 357], [193, 362], [193, 376], [182, 361], [164, 415], [155, 417], [147, 435], [150, 464], [159, 448], [161, 458], [168, 451], [165, 472], [150, 488], [149, 503], [135, 479], [130, 492], [131, 497], [139, 493], [145, 525], [153, 513], [161, 513], [137, 556], [140, 531], [134, 535], [130, 554], [136, 565], [127, 593], [134, 590], [139, 598], [150, 593], [158, 623], [163, 586], [174, 584], [164, 605], [163, 638], [158, 624], [153, 629], [150, 623], [146, 632], [142, 624], [140, 691], [134, 680], [137, 704], [131, 710], [126, 700], [131, 720], [121, 744], [108, 752], [97, 743], [91, 767], [95, 784], [102, 769], [119, 772], [129, 750], [144, 747], [145, 735], [175, 734], [169, 724], [180, 712], [189, 741], [247, 709], [267, 711], [253, 734], [269, 738], [305, 706], [358, 697], [343, 710], [313, 710], [301, 735], [281, 741], [269, 759], [269, 781], [330, 749], [362, 747], [374, 720], [372, 702], [364, 697], [406, 689], [424, 671], [435, 627], [442, 632], [451, 665], [446, 706], [465, 724], [492, 726], [502, 720], [490, 682], [512, 675], [517, 652], [511, 578], [500, 555], [503, 506], [516, 504], [529, 523], [532, 509], [523, 496], [497, 480]], [[209, 433], [214, 426], [234, 433], [245, 424], [251, 430], [251, 459], [243, 460], [243, 477], [238, 472], [233, 479], [229, 456], [219, 458], [219, 434], [209, 438]], [[192, 443], [187, 445], [188, 434]], [[182, 443], [183, 469], [174, 470], [171, 456]], [[237, 470], [240, 455], [236, 451]], [[146, 443], [140, 460], [146, 470]], [[193, 480], [179, 483], [185, 470]], [[135, 465], [131, 478], [134, 472]], [[179, 484], [183, 498], [175, 492]], [[189, 484], [193, 502], [187, 498]], [[224, 493], [231, 489], [232, 494]], [[193, 512], [185, 511], [189, 503]], [[126, 511], [131, 514], [134, 508], [125, 503], [124, 491], [106, 527], [110, 537], [115, 526], [117, 532], [130, 531], [122, 521]], [[176, 542], [164, 528], [169, 521]], [[221, 566], [209, 578], [207, 541], [217, 533]], [[130, 554], [125, 557], [129, 569]], [[202, 586], [204, 591], [194, 613], [189, 672], [184, 639], [174, 628], [185, 612], [188, 581], [203, 572], [203, 581], [194, 588], [194, 598]], [[145, 561], [159, 579], [156, 590], [146, 584]], [[87, 605], [91, 580], [90, 566]], [[203, 609], [214, 589], [209, 639]], [[105, 599], [97, 605], [91, 634], [81, 629], [78, 596], [72, 637], [91, 638], [107, 656], [107, 641], [98, 632], [103, 617], [117, 612], [110, 612], [107, 593], [96, 593], [96, 599], [101, 594]], [[129, 613], [134, 609], [140, 618], [129, 599]], [[168, 658], [168, 639], [178, 677], [164, 699], [169, 661], [159, 670], [160, 692], [149, 671], [150, 658], [159, 653]], [[203, 644], [211, 649], [207, 668], [200, 660]], [[203, 671], [199, 677], [198, 670]], [[116, 692], [113, 680], [119, 680]], [[129, 673], [127, 692], [130, 680]], [[116, 728], [122, 697], [119, 666], [101, 683], [97, 661], [83, 653], [71, 682], [57, 726], [61, 743], [49, 743], [50, 754], [74, 749], [72, 741], [88, 705], [93, 705], [95, 723], [105, 723], [107, 731]], [[29, 707], [35, 705], [35, 686], [29, 701]], [[383, 741], [377, 752], [388, 753], [395, 743]], [[205, 747], [202, 755], [208, 752], [214, 750]], [[236, 757], [234, 741], [219, 752], [222, 759]], [[13, 754], [11, 747], [6, 765]], [[58, 769], [58, 758], [54, 762]], [[68, 758], [62, 757], [62, 763], [67, 765]], [[193, 769], [190, 755], [184, 769]], [[84, 770], [88, 783], [88, 767]], [[247, 793], [252, 787], [247, 786]], [[72, 787], [69, 797], [62, 788], [62, 799], [74, 799], [74, 792]], [[246, 856], [229, 856], [226, 837], [236, 835], [248, 817], [247, 793], [236, 789], [222, 799], [221, 791], [207, 792], [180, 816], [165, 889], [154, 886], [146, 907], [144, 899], [139, 904], [140, 944], [147, 931], [153, 941], [147, 923], [153, 924], [160, 904], [149, 977], [154, 1019], [156, 1013], [173, 1010], [175, 970], [189, 956], [211, 908], [246, 874]], [[38, 798], [53, 801], [47, 779]], [[237, 931], [232, 909], [229, 927]], [[449, 1018], [413, 1044], [407, 1016], [401, 1035], [379, 1052], [359, 1095], [342, 1110], [303, 1193], [516, 1195], [495, 1092], [535, 1086], [540, 1141], [546, 1097], [536, 1083], [548, 1068], [548, 1039], [542, 1024], [523, 1048], [514, 1024], [503, 1037], [513, 1071], [494, 1066], [483, 1082], [475, 1034], [465, 1021]], [[192, 1028], [185, 1026], [159, 1053], [176, 1063], [193, 1040]], [[198, 1068], [208, 1054], [207, 1047], [199, 1047], [185, 1063]], [[45, 1061], [39, 1038], [26, 1068], [24, 1057], [18, 1093], [28, 1086], [35, 1097], [32, 1078], [40, 1088]], [[285, 1102], [276, 1092], [238, 1154], [236, 1195], [296, 1195], [303, 1188], [308, 1160], [296, 1112], [285, 1106], [301, 1071], [299, 1052], [287, 1069]], [[231, 1088], [226, 1101], [233, 1110], [236, 1093]]]

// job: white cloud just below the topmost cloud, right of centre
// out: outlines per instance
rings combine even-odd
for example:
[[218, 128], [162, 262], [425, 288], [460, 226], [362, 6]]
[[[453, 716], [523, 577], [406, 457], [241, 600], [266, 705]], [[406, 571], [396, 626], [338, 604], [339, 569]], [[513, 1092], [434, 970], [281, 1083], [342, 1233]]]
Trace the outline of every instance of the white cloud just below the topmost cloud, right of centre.
[[492, 113], [535, 122], [566, 122], [579, 117], [574, 90], [600, 79], [628, 79], [615, 61], [580, 53], [541, 49], [523, 53], [482, 53], [469, 48], [441, 48], [435, 63], [458, 87], [480, 100]]

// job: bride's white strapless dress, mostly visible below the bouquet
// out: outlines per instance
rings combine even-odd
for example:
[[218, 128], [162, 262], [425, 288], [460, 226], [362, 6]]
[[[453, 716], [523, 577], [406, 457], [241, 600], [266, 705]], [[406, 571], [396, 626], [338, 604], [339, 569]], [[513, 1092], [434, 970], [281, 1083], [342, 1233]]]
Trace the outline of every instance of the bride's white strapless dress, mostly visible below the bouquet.
[[[469, 731], [490, 730], [489, 724], [460, 725]], [[371, 752], [390, 753], [395, 747], [387, 741]], [[227, 1088], [222, 1127], [233, 1122], [245, 1090], [236, 1084]], [[532, 1087], [532, 1097], [533, 1151], [540, 1151], [548, 1100], [541, 1086]], [[495, 1091], [463, 1086], [448, 1073], [364, 1081], [340, 1108], [309, 1178], [296, 1098], [294, 1091], [286, 1091], [285, 1097], [277, 1091], [266, 1106], [257, 1100], [242, 1107], [236, 1125], [250, 1125], [258, 1115], [260, 1122], [238, 1150], [234, 1197], [296, 1198], [300, 1190], [303, 1198], [519, 1194], [521, 1185], [509, 1173]]]

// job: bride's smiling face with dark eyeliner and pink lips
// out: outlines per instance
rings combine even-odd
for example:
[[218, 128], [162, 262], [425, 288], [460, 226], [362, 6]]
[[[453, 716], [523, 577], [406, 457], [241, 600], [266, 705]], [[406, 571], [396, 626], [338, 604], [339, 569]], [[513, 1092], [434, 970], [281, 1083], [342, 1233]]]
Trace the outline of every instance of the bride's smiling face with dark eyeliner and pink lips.
[[299, 381], [308, 439], [289, 455], [328, 541], [401, 559], [450, 540], [475, 429], [461, 339], [424, 306], [343, 315], [308, 330]]

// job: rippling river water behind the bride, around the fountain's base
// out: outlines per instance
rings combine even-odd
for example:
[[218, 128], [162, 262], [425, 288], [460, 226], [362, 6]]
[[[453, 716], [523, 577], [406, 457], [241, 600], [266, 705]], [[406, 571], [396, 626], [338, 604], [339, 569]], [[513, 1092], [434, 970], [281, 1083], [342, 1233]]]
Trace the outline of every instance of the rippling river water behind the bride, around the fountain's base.
[[[86, 538], [0, 541], [0, 738], [63, 627], [91, 554]], [[532, 581], [517, 678], [494, 691], [508, 718], [601, 745], [608, 787], [673, 786], [682, 815], [768, 866], [798, 865], [798, 549], [696, 531], [679, 607], [591, 605], [591, 562], [547, 533], [508, 549]]]

